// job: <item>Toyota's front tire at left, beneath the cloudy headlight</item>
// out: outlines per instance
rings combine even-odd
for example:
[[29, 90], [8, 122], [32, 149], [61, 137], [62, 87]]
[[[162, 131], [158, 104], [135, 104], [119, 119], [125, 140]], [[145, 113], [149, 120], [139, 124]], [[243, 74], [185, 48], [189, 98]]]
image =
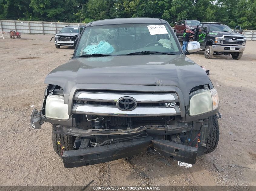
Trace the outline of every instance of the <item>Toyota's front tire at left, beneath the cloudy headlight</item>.
[[[60, 144], [58, 144], [58, 142]], [[56, 125], [52, 125], [52, 144], [53, 150], [61, 157], [63, 151], [74, 150], [75, 136], [71, 135], [63, 135], [58, 133], [58, 128]], [[62, 147], [64, 147], [62, 149]]]

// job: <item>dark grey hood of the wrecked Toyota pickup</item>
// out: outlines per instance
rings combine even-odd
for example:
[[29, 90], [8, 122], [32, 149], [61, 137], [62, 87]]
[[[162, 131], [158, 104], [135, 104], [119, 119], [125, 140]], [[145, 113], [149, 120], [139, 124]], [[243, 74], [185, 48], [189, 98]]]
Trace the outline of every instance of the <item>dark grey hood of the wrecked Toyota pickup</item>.
[[158, 89], [176, 86], [183, 97], [188, 97], [192, 88], [211, 84], [211, 81], [204, 70], [185, 55], [133, 55], [72, 59], [52, 70], [45, 83], [62, 87], [64, 96], [77, 84], [83, 84], [84, 89], [88, 88], [86, 84], [101, 84], [104, 90], [123, 84], [159, 86]]

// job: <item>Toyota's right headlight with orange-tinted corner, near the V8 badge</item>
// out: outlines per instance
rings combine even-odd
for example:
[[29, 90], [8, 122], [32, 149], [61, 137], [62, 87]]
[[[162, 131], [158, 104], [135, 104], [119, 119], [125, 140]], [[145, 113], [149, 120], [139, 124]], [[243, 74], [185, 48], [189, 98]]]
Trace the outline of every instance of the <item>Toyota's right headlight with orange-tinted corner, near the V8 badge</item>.
[[213, 111], [218, 105], [219, 97], [215, 88], [193, 92], [190, 94], [189, 115], [195, 116]]

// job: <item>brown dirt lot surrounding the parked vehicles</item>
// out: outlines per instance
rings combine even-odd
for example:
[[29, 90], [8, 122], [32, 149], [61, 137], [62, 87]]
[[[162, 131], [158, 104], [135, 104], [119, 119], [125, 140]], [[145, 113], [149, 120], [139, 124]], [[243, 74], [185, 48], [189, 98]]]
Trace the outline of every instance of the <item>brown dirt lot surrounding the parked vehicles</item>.
[[[41, 108], [45, 76], [67, 62], [74, 49], [56, 49], [51, 36], [0, 39], [0, 185], [255, 185], [256, 42], [240, 60], [231, 56], [189, 57], [210, 69], [220, 97], [220, 141], [192, 168], [141, 153], [88, 167], [66, 169], [52, 148], [51, 125], [29, 126], [31, 105]], [[68, 56], [66, 56], [68, 55]], [[219, 173], [212, 163], [224, 169]]]

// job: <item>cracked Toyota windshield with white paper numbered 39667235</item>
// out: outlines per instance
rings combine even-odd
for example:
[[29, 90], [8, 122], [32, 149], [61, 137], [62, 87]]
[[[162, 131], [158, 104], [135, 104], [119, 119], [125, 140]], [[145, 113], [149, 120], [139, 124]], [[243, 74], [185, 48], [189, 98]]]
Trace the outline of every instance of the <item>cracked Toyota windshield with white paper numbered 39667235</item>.
[[74, 58], [104, 54], [181, 54], [165, 24], [115, 24], [86, 27]]

